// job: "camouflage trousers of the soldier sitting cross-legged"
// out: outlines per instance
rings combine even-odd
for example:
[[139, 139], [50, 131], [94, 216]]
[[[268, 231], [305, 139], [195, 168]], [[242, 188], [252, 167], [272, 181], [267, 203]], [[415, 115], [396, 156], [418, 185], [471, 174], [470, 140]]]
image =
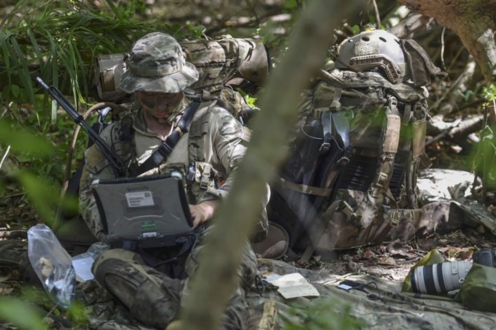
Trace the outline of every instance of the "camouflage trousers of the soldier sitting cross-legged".
[[[196, 269], [201, 244], [188, 257], [185, 271], [190, 276]], [[238, 272], [244, 282], [256, 274], [256, 257], [248, 242]], [[188, 294], [188, 279], [171, 279], [150, 266], [136, 252], [111, 249], [98, 257], [93, 265], [95, 279], [115, 295], [144, 325], [165, 329], [181, 307], [181, 298]], [[222, 329], [245, 329], [246, 306], [240, 287], [224, 314]]]

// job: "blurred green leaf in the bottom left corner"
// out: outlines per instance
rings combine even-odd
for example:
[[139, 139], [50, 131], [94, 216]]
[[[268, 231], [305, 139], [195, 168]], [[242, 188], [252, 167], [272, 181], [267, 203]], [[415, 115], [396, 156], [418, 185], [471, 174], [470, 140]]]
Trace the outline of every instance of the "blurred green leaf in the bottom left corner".
[[16, 298], [0, 297], [0, 318], [10, 320], [19, 329], [47, 330], [41, 316], [30, 306]]

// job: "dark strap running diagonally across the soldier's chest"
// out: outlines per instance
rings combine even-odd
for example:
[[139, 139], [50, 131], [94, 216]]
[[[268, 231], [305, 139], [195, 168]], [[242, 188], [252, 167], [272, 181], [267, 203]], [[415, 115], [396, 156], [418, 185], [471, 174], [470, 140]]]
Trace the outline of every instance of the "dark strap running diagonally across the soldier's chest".
[[142, 165], [139, 165], [139, 167], [133, 172], [132, 176], [139, 176], [139, 174], [157, 167], [167, 159], [177, 142], [179, 142], [179, 139], [181, 139], [181, 137], [188, 132], [188, 126], [190, 126], [194, 113], [200, 106], [200, 103], [201, 102], [199, 101], [193, 101], [188, 105], [188, 107], [186, 107], [179, 123], [177, 124], [177, 128], [170, 133], [166, 141], [162, 142], [161, 145], [159, 145], [159, 148], [155, 150], [155, 152], [153, 152], [153, 154], [151, 154], [151, 156], [148, 157]]

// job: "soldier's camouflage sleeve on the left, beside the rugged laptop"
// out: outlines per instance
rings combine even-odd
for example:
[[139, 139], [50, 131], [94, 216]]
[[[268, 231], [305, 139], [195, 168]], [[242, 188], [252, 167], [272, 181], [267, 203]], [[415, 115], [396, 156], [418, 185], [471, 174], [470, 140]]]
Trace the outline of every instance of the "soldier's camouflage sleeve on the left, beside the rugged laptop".
[[84, 152], [85, 164], [82, 169], [79, 191], [79, 211], [91, 230], [91, 233], [100, 241], [108, 241], [103, 233], [102, 222], [98, 214], [93, 192], [91, 191], [91, 182], [95, 178], [114, 178], [113, 169], [106, 160], [105, 156], [95, 147], [91, 146]]

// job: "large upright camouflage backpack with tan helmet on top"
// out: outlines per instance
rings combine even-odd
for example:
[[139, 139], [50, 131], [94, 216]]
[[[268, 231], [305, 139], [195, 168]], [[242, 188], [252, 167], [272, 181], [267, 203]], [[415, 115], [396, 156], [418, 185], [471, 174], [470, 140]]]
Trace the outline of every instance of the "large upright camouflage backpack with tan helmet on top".
[[413, 40], [385, 31], [341, 43], [335, 68], [305, 95], [306, 120], [272, 187], [269, 219], [286, 228], [291, 248], [308, 258], [315, 248], [379, 243], [417, 207], [425, 84], [438, 71]]

